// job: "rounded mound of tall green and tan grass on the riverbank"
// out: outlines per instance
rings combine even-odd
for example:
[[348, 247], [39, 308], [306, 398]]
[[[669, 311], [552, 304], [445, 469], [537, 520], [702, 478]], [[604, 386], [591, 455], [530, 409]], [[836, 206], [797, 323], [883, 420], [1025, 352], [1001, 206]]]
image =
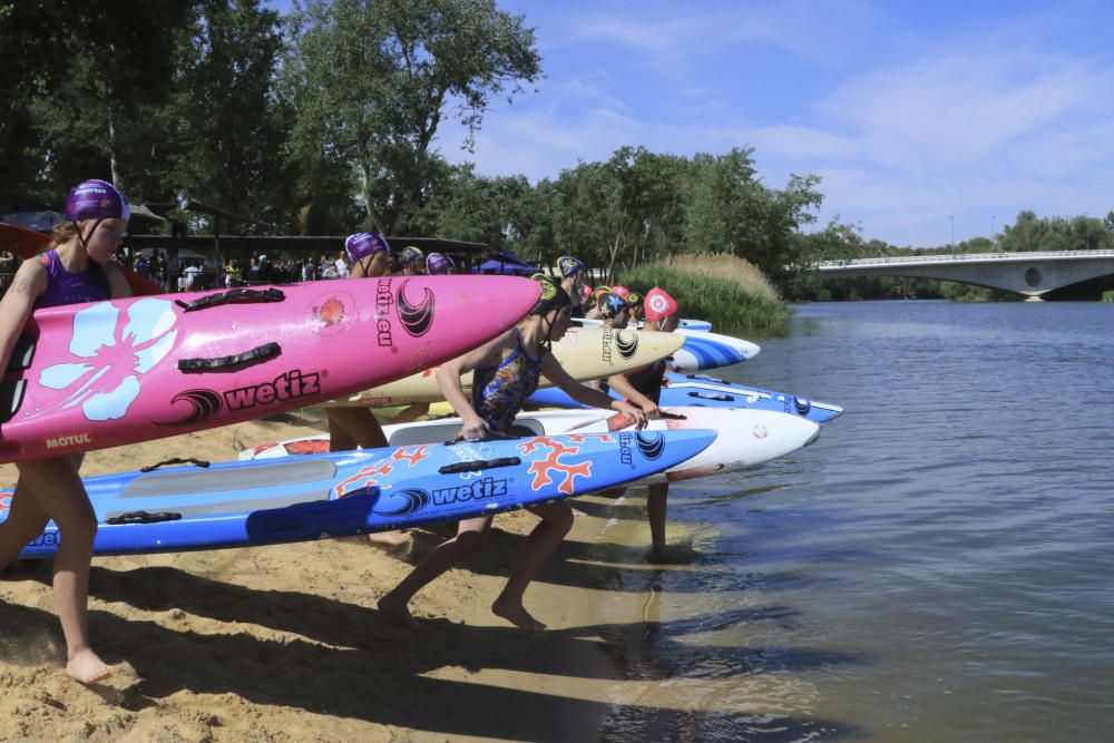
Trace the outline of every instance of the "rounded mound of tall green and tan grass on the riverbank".
[[624, 272], [619, 283], [642, 293], [661, 286], [685, 317], [711, 320], [716, 329], [770, 329], [790, 315], [761, 271], [726, 253], [670, 256]]

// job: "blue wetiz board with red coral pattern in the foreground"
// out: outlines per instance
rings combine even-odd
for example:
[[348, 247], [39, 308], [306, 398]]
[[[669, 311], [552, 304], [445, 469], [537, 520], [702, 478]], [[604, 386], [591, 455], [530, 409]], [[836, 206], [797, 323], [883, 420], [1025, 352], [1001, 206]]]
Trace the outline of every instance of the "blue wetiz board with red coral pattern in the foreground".
[[[85, 479], [95, 555], [246, 547], [526, 508], [683, 462], [714, 431], [538, 436], [175, 467]], [[0, 492], [0, 520], [11, 491]], [[20, 557], [52, 556], [51, 522]]]

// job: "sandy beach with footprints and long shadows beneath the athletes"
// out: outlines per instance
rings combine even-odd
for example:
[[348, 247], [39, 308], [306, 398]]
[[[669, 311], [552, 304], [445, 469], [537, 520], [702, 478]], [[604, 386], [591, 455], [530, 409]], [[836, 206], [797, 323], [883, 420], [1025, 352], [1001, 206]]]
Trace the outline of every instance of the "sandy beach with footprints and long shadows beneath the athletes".
[[[289, 417], [96, 451], [82, 473], [169, 457], [234, 459], [319, 422]], [[0, 477], [13, 482], [14, 468]], [[481, 554], [418, 595], [421, 630], [385, 617], [375, 600], [408, 559], [438, 542], [437, 530], [412, 532], [409, 555], [349, 538], [97, 558], [90, 627], [114, 675], [94, 687], [62, 674], [49, 565], [9, 571], [0, 580], [0, 739], [595, 740], [610, 700], [629, 698], [608, 651], [626, 629], [596, 619], [613, 570], [593, 563], [593, 547], [614, 509], [585, 499], [579, 510], [527, 592], [549, 625], [534, 637], [489, 609], [536, 524], [526, 512], [498, 517]]]

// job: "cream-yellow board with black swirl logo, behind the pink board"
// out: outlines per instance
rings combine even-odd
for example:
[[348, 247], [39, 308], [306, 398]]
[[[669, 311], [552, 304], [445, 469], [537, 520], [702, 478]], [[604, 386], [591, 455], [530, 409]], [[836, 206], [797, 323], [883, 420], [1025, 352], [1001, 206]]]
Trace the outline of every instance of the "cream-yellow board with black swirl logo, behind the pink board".
[[[554, 355], [573, 378], [586, 382], [620, 374], [645, 366], [674, 353], [685, 342], [676, 333], [645, 330], [610, 330], [609, 327], [570, 327], [557, 343]], [[329, 408], [384, 408], [414, 402], [443, 400], [437, 384], [436, 368], [427, 369], [390, 384], [364, 390], [348, 400], [333, 400]], [[472, 375], [460, 379], [465, 393], [471, 394]], [[549, 387], [543, 377], [541, 387]]]

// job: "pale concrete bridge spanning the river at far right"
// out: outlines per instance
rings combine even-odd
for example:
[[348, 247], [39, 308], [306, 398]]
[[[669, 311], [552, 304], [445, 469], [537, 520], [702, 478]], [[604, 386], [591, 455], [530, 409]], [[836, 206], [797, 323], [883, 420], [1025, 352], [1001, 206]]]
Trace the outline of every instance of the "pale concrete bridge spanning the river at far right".
[[[957, 253], [909, 257], [857, 258], [818, 264], [824, 276], [911, 276], [989, 286], [1040, 301], [1046, 294], [1086, 286], [1097, 297], [1114, 286], [1114, 251], [1048, 253]], [[1110, 280], [1104, 282], [1102, 280]], [[1083, 299], [1083, 297], [1081, 297]]]

